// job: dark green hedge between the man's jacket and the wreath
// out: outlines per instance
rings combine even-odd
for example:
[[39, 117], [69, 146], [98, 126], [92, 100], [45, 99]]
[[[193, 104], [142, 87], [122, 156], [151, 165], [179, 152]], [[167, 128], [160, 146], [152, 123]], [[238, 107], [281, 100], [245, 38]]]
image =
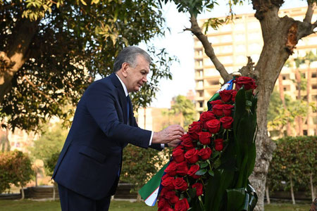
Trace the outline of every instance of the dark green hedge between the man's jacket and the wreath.
[[163, 155], [158, 152], [152, 148], [144, 149], [131, 144], [125, 147], [120, 181], [134, 184], [134, 192], [139, 190], [162, 167], [163, 162], [168, 160], [166, 150]]

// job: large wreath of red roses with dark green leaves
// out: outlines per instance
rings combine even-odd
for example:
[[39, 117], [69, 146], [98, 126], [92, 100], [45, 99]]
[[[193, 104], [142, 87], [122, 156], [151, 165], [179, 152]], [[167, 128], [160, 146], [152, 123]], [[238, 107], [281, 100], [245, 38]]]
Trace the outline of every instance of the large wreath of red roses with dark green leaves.
[[256, 84], [250, 77], [233, 83], [235, 90], [219, 91], [173, 149], [161, 179], [160, 211], [254, 209], [248, 177], [256, 157]]

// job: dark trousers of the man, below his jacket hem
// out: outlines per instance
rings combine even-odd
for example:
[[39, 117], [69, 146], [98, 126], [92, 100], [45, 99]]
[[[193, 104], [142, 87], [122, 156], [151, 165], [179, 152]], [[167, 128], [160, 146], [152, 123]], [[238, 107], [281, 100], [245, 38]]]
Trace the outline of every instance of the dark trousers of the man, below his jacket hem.
[[108, 211], [111, 196], [93, 200], [58, 184], [62, 211]]

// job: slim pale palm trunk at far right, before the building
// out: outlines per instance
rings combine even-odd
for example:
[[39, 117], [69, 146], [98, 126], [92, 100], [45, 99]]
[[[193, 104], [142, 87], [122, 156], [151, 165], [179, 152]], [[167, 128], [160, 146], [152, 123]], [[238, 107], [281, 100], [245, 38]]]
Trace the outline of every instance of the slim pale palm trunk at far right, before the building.
[[312, 109], [309, 106], [311, 103], [311, 64], [306, 62], [307, 65], [307, 87], [306, 87], [306, 95], [307, 95], [307, 135], [313, 136], [313, 116], [311, 115]]

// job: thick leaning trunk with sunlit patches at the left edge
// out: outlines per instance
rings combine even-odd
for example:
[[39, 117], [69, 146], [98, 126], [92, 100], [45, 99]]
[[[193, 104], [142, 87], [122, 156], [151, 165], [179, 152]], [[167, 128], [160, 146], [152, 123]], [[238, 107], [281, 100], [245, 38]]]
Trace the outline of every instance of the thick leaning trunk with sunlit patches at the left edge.
[[16, 72], [28, 59], [28, 49], [37, 31], [38, 22], [23, 18], [11, 34], [14, 42], [4, 51], [0, 50], [0, 103], [11, 90], [11, 81]]

